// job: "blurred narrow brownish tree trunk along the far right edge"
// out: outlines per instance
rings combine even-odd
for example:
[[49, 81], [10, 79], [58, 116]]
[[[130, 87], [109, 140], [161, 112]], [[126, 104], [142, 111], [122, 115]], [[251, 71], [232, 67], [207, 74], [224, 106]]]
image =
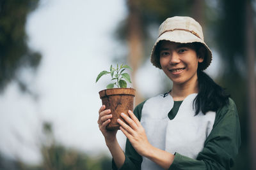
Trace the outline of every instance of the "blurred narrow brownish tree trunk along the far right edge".
[[248, 79], [248, 113], [250, 124], [250, 162], [251, 169], [256, 169], [256, 85], [255, 85], [255, 34], [251, 1], [246, 1], [246, 61]]

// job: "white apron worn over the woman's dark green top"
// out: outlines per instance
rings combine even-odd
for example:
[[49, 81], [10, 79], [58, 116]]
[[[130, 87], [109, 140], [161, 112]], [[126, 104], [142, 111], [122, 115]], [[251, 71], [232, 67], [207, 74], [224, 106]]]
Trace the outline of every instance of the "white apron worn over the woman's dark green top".
[[[190, 94], [180, 105], [179, 111], [173, 120], [168, 113], [173, 108], [173, 98], [159, 95], [148, 99], [141, 111], [141, 125], [145, 128], [148, 141], [151, 145], [174, 154], [196, 159], [204, 148], [204, 141], [212, 131], [216, 113], [200, 111], [195, 116], [193, 101], [197, 94]], [[142, 170], [163, 169], [151, 160], [143, 157]]]

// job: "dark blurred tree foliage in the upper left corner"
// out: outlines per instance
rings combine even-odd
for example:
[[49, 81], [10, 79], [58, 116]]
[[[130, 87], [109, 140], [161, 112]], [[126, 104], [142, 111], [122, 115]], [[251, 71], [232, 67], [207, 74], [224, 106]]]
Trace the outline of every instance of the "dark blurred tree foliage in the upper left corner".
[[35, 69], [40, 63], [40, 53], [28, 48], [25, 30], [26, 18], [38, 6], [38, 1], [0, 1], [0, 92], [12, 80], [26, 91], [18, 73], [22, 67]]

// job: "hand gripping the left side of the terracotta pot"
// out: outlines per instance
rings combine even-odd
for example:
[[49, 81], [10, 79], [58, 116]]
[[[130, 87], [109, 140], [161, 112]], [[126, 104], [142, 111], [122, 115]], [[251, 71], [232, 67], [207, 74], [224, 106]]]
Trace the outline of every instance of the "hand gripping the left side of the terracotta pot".
[[106, 110], [105, 105], [101, 106], [99, 110], [98, 124], [99, 124], [99, 129], [102, 132], [107, 145], [108, 143], [111, 143], [116, 139], [117, 130], [108, 131], [106, 129], [106, 126], [110, 123], [111, 118], [112, 118], [111, 110]]

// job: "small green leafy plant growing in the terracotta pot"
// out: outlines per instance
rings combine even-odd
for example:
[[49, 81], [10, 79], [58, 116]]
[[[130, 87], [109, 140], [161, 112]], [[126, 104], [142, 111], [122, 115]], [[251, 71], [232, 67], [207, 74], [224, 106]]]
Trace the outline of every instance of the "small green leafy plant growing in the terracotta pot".
[[[131, 81], [130, 75], [128, 73], [123, 73], [125, 71], [125, 69], [131, 69], [131, 67], [129, 67], [127, 65], [123, 65], [123, 64], [121, 64], [121, 66], [118, 67], [118, 64], [116, 64], [116, 68], [115, 68], [111, 65], [109, 71], [101, 71], [99, 73], [99, 75], [97, 76], [97, 79], [96, 79], [96, 83], [100, 79], [101, 76], [103, 76], [105, 74], [110, 74], [111, 78], [112, 78], [111, 81], [116, 80], [116, 82], [110, 83], [109, 85], [107, 85], [107, 89], [112, 89], [115, 85], [117, 88], [126, 88], [127, 87], [126, 81], [128, 81], [129, 83], [132, 83], [132, 81]], [[132, 71], [132, 69], [131, 69], [131, 71]]]

